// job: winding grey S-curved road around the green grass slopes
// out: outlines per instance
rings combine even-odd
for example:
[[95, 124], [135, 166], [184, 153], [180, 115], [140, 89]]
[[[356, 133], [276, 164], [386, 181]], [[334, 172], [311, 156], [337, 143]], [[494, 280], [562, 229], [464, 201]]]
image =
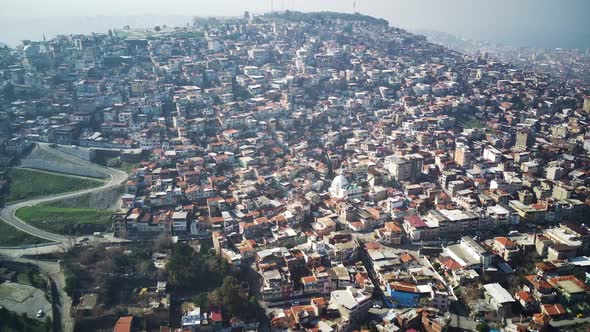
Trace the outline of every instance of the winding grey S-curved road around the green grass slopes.
[[58, 199], [72, 198], [72, 197], [76, 197], [79, 195], [83, 195], [83, 194], [87, 194], [87, 193], [91, 193], [91, 192], [95, 192], [95, 191], [99, 191], [99, 190], [105, 190], [105, 189], [117, 187], [123, 181], [125, 181], [127, 179], [127, 174], [125, 172], [122, 172], [122, 171], [119, 171], [119, 170], [116, 170], [113, 168], [103, 167], [103, 166], [93, 164], [88, 161], [76, 158], [76, 157], [69, 155], [67, 153], [52, 149], [47, 144], [39, 143], [39, 147], [43, 150], [46, 150], [48, 152], [55, 154], [56, 156], [59, 156], [60, 158], [77, 163], [80, 165], [80, 167], [91, 168], [91, 169], [94, 169], [98, 172], [101, 172], [101, 173], [107, 175], [109, 180], [106, 182], [106, 184], [104, 186], [98, 187], [98, 188], [85, 189], [85, 190], [69, 192], [69, 193], [64, 193], [64, 194], [58, 194], [58, 195], [53, 195], [53, 196], [46, 196], [46, 197], [36, 198], [36, 199], [24, 201], [24, 202], [17, 202], [14, 204], [9, 204], [6, 207], [4, 207], [2, 210], [0, 210], [0, 219], [2, 221], [6, 222], [7, 224], [25, 232], [25, 233], [29, 233], [31, 235], [34, 235], [34, 236], [37, 236], [37, 237], [40, 237], [42, 239], [46, 239], [49, 241], [58, 242], [63, 245], [73, 245], [74, 243], [72, 243], [73, 241], [72, 241], [72, 238], [70, 238], [70, 237], [63, 236], [60, 234], [46, 232], [44, 230], [35, 228], [35, 227], [27, 224], [26, 222], [24, 222], [21, 219], [16, 217], [16, 215], [15, 215], [16, 211], [22, 207], [25, 207], [25, 206], [33, 206], [33, 205], [37, 205], [39, 203], [54, 201], [54, 200], [58, 200]]

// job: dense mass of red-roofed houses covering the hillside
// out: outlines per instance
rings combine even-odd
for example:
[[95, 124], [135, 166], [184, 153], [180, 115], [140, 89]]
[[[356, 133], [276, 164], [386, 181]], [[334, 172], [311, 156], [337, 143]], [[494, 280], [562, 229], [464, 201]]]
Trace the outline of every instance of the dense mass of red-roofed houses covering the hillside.
[[115, 235], [211, 241], [256, 269], [279, 330], [352, 331], [386, 307], [383, 331], [442, 331], [461, 301], [531, 331], [586, 315], [588, 87], [318, 15], [2, 50], [0, 143], [119, 153]]

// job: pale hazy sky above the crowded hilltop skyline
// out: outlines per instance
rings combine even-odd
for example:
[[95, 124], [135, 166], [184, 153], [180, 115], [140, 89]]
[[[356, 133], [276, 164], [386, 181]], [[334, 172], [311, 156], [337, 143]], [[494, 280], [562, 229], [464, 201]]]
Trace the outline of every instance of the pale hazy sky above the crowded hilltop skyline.
[[[354, 0], [273, 0], [275, 10], [352, 12]], [[590, 0], [357, 0], [363, 14], [407, 29], [540, 47], [590, 47]], [[0, 0], [0, 41], [43, 33], [183, 24], [191, 16], [262, 13], [271, 0]]]

